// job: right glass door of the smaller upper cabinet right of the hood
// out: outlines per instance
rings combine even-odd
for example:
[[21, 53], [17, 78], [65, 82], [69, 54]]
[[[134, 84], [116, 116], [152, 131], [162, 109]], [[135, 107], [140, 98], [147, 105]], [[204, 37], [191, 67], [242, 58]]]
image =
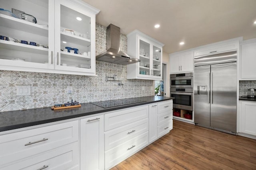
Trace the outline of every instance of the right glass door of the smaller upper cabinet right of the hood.
[[162, 76], [161, 75], [161, 66], [162, 66], [162, 50], [153, 45], [153, 68], [152, 68], [152, 76]]

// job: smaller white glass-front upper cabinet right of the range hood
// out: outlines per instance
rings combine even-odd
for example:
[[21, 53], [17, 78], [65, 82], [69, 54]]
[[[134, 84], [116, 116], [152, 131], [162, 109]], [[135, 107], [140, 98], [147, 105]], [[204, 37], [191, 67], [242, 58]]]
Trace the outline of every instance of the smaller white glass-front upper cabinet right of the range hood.
[[162, 47], [164, 44], [135, 30], [127, 35], [128, 55], [140, 59], [127, 65], [127, 79], [162, 80]]

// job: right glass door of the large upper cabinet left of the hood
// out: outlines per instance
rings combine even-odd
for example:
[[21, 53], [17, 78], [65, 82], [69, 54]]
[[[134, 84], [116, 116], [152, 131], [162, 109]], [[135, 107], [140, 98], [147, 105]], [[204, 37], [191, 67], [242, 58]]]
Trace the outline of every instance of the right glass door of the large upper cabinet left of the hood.
[[[91, 17], [82, 8], [68, 1], [58, 0], [56, 6], [55, 53], [56, 69], [90, 72]], [[76, 10], [74, 10], [76, 9]], [[59, 13], [57, 14], [59, 10]], [[56, 22], [57, 23], [57, 22]]]

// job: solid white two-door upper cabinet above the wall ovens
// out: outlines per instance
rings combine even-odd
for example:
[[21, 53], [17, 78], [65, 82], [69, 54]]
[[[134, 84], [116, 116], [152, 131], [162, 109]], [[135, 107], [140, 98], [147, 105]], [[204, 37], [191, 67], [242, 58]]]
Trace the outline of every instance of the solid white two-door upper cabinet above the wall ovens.
[[177, 72], [193, 72], [193, 51], [170, 54], [170, 74]]

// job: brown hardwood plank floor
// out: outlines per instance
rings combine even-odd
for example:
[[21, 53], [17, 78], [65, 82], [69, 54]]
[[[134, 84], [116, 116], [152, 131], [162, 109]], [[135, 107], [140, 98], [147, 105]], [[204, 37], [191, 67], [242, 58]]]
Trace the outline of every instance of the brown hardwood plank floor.
[[164, 137], [111, 170], [256, 170], [256, 140], [173, 121]]

